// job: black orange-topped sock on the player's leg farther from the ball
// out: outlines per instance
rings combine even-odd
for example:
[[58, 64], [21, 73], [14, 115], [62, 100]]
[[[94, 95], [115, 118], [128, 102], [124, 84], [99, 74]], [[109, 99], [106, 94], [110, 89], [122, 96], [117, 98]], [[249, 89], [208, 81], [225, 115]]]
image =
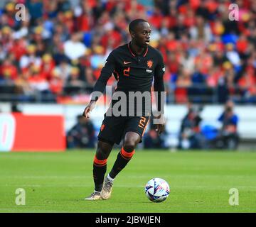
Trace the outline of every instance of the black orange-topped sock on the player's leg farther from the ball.
[[107, 171], [107, 159], [98, 160], [96, 155], [93, 160], [93, 180], [95, 182], [95, 191], [100, 192], [104, 181], [104, 175]]

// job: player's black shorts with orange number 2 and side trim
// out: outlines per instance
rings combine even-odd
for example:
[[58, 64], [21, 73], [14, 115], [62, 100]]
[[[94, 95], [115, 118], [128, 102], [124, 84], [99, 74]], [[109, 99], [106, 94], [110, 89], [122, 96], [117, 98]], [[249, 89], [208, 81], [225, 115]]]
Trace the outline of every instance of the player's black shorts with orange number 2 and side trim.
[[105, 116], [100, 127], [98, 139], [108, 143], [119, 143], [127, 132], [135, 132], [141, 136], [149, 123], [149, 116]]

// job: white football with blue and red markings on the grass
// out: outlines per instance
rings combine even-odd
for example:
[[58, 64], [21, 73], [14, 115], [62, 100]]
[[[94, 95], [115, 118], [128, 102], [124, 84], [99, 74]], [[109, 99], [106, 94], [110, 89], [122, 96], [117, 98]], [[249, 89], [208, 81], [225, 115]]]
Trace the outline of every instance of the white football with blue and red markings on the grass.
[[149, 200], [159, 203], [167, 199], [170, 193], [169, 184], [161, 178], [153, 178], [146, 183], [145, 194]]

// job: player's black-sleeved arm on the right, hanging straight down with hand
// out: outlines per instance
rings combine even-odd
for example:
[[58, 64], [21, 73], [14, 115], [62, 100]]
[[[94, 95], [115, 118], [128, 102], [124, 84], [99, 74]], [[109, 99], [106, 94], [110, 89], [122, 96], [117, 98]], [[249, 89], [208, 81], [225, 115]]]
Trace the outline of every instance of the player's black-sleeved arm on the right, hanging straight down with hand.
[[154, 70], [154, 92], [156, 92], [156, 109], [158, 116], [156, 116], [158, 123], [156, 124], [156, 131], [161, 134], [164, 131], [165, 119], [164, 119], [164, 96], [161, 95], [164, 91], [164, 59], [159, 52], [159, 62]]

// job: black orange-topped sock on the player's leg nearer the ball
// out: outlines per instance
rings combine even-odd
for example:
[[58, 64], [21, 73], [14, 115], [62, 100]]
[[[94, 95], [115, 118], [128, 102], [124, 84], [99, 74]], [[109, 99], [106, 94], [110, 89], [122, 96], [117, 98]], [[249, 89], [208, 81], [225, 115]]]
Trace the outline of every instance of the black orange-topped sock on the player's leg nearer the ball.
[[114, 165], [112, 167], [112, 170], [110, 171], [110, 177], [114, 179], [118, 175], [118, 173], [124, 169], [124, 167], [127, 165], [129, 160], [132, 159], [132, 156], [134, 155], [135, 150], [132, 150], [132, 152], [127, 152], [124, 150], [124, 148], [121, 149], [121, 151], [117, 155], [117, 160], [114, 162]]

